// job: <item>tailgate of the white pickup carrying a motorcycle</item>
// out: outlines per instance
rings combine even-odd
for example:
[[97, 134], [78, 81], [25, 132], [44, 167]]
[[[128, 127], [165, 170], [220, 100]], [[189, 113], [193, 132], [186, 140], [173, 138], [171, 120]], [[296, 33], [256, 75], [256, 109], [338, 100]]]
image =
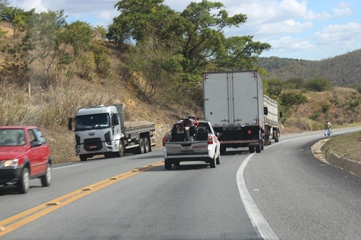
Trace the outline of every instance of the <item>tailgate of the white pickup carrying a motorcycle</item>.
[[208, 155], [207, 141], [171, 142], [166, 144], [168, 157], [185, 155]]

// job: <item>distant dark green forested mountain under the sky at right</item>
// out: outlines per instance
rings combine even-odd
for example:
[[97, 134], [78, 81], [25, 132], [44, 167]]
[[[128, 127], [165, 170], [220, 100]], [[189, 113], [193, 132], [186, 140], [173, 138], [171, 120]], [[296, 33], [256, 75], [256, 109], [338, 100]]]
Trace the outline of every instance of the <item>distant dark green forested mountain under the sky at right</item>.
[[323, 77], [335, 86], [361, 83], [361, 49], [319, 61], [259, 58], [257, 66], [266, 69], [266, 78], [287, 80], [297, 77], [310, 80]]

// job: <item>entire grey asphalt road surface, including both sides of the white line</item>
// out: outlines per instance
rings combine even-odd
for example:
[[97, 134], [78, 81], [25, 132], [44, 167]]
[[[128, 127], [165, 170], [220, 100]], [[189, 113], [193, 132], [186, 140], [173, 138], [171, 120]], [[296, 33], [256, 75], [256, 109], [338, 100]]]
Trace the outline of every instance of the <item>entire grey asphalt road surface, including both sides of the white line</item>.
[[154, 164], [161, 151], [55, 165], [50, 187], [0, 189], [0, 223], [42, 205], [0, 224], [0, 238], [361, 239], [361, 178], [316, 160], [310, 147], [321, 138], [282, 137], [262, 153], [230, 149], [216, 169], [182, 162], [166, 171]]

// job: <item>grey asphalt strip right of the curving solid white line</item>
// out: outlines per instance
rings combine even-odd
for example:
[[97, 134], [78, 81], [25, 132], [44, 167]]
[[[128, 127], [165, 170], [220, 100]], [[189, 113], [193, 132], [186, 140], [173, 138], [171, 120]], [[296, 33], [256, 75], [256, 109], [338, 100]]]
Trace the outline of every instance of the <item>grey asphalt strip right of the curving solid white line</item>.
[[361, 178], [316, 160], [310, 147], [321, 138], [282, 139], [246, 167], [252, 199], [280, 239], [361, 239]]

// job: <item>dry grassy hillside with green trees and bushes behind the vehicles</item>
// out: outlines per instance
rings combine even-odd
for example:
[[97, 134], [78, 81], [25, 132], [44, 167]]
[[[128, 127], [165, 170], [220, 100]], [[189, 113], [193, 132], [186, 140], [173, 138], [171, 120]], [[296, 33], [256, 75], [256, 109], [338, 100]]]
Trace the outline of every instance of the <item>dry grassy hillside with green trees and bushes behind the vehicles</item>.
[[67, 23], [63, 10], [36, 13], [0, 0], [0, 125], [40, 126], [54, 163], [78, 160], [67, 118], [86, 105], [125, 103], [128, 121], [156, 123], [160, 148], [174, 120], [202, 117], [204, 71], [259, 70], [264, 92], [280, 103], [281, 133], [320, 130], [326, 119], [361, 122], [356, 89], [324, 77], [269, 78], [257, 61], [271, 45], [226, 37], [247, 16], [230, 17], [222, 3], [175, 12], [161, 0], [123, 0], [116, 8], [106, 30]]

